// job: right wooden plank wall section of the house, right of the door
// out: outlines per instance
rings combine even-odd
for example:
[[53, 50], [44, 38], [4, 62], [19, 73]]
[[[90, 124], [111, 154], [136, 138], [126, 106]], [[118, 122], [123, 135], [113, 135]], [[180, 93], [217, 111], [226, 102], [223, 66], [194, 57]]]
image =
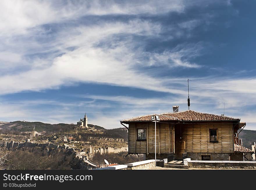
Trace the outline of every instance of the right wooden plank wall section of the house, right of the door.
[[[182, 141], [186, 141], [186, 152], [232, 153], [232, 124], [187, 124], [181, 127]], [[218, 142], [209, 142], [209, 129], [218, 129]], [[180, 137], [179, 126], [175, 136]]]

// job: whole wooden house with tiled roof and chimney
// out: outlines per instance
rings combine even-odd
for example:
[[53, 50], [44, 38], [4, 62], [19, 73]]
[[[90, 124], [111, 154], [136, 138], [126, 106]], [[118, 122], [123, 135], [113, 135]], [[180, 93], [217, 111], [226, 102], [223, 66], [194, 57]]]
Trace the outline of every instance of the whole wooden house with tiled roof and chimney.
[[129, 125], [128, 153], [146, 154], [146, 159], [154, 159], [156, 125], [157, 159], [170, 156], [176, 160], [186, 157], [191, 160], [232, 158], [235, 146], [240, 146], [236, 142], [237, 131], [246, 123], [240, 123], [237, 118], [193, 110], [177, 112], [176, 108], [173, 108], [173, 113], [145, 115], [120, 121], [122, 125]]

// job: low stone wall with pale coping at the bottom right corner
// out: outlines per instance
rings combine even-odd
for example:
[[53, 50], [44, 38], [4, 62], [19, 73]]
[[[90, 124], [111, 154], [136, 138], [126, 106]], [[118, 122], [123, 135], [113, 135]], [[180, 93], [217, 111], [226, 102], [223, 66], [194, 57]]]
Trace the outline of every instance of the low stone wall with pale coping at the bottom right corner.
[[224, 169], [256, 169], [256, 162], [246, 161], [229, 161], [229, 162], [193, 162], [188, 161], [189, 167], [192, 168], [224, 168]]

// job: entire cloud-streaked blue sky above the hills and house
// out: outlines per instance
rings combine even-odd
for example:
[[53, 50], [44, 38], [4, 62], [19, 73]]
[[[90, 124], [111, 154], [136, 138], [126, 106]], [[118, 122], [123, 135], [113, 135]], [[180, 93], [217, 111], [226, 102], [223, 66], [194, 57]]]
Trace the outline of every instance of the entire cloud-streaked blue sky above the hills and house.
[[0, 120], [88, 123], [187, 107], [256, 130], [255, 1], [1, 1]]

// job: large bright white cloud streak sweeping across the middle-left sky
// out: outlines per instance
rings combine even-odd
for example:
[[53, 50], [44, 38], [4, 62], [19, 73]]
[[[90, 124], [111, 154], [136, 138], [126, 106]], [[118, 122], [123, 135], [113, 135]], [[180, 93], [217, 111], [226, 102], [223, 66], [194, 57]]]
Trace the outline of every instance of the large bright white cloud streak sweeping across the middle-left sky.
[[[151, 36], [157, 35], [160, 31], [161, 26], [138, 19], [129, 23], [104, 23], [100, 26], [77, 27], [68, 32], [62, 31], [58, 39], [53, 41], [53, 44], [56, 44], [55, 50], [59, 50], [62, 55], [56, 58], [50, 56], [52, 60], [49, 60], [48, 56], [46, 59], [35, 59], [31, 63], [37, 61], [39, 64], [32, 64], [28, 71], [0, 76], [0, 84], [3, 84], [0, 93], [40, 91], [72, 82], [108, 83], [170, 92], [162, 85], [166, 79], [159, 80], [136, 70], [136, 65], [141, 63], [141, 54], [145, 52], [134, 49], [135, 42], [131, 39], [115, 41], [114, 36], [117, 34]], [[106, 46], [97, 46], [102, 41]], [[70, 51], [67, 50], [68, 47], [77, 48]], [[186, 55], [188, 51], [181, 49], [170, 53], [171, 64], [176, 67], [200, 67], [186, 60], [182, 61], [182, 54]], [[161, 55], [159, 59], [167, 59], [167, 56]], [[143, 64], [143, 66], [147, 65], [147, 63]], [[124, 71], [126, 75], [122, 74]]]

